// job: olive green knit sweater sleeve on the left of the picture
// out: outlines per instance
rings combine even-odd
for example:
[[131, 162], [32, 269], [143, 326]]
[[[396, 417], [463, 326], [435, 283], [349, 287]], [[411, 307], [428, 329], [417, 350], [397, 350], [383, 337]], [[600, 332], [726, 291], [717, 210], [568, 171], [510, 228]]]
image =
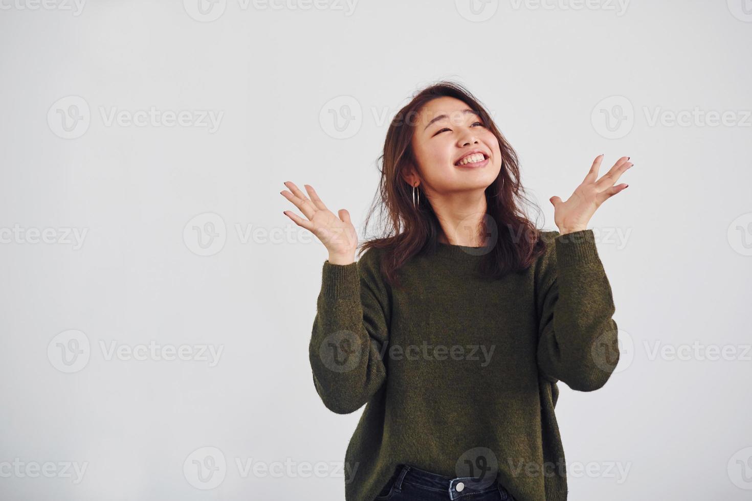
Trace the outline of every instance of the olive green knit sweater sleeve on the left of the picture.
[[377, 249], [351, 264], [324, 261], [308, 355], [327, 409], [355, 412], [384, 384], [381, 346], [388, 340], [389, 312]]

